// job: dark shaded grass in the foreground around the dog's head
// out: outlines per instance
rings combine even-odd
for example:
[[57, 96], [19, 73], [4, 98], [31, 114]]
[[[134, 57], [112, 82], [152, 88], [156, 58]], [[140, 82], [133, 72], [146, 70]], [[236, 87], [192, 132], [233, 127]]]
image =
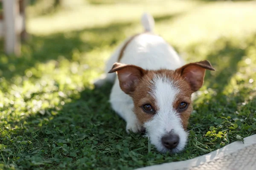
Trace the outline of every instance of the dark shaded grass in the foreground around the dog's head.
[[[196, 116], [192, 115], [191, 122], [200, 122], [204, 123], [203, 125], [208, 124], [208, 126], [194, 129], [195, 136], [190, 136], [187, 151], [167, 156], [158, 153], [151, 147], [151, 152], [148, 153], [147, 139], [140, 135], [127, 135], [124, 130], [125, 122], [111, 110], [108, 103], [111, 86], [108, 84], [100, 89], [86, 89], [81, 92], [80, 99], [67, 103], [60, 111], [48, 110], [44, 116], [38, 113], [26, 119], [26, 124], [20, 122], [23, 127], [13, 130], [13, 134], [10, 136], [12, 142], [7, 142], [2, 138], [3, 144], [7, 146], [13, 144], [11, 150], [13, 153], [11, 151], [4, 152], [4, 158], [7, 160], [8, 156], [10, 160], [15, 160], [12, 165], [15, 165], [17, 169], [20, 167], [23, 169], [37, 167], [55, 169], [56, 166], [67, 169], [105, 169], [106, 167], [133, 169], [185, 160], [209, 153], [209, 148], [215, 150], [219, 145], [216, 136], [204, 137], [209, 126], [216, 126], [216, 129], [218, 128], [220, 131], [227, 128], [226, 126], [224, 129], [221, 129], [223, 126], [217, 127], [219, 124], [228, 124], [223, 121], [218, 122], [218, 118], [227, 117], [231, 113], [223, 114], [225, 110], [216, 110], [218, 111], [216, 113], [215, 108], [224, 109], [225, 107], [215, 103], [216, 106], [212, 108], [204, 100], [202, 104], [196, 106], [198, 113]], [[219, 97], [227, 96], [214, 97], [209, 102], [216, 102]], [[236, 105], [228, 106], [229, 108], [233, 107], [234, 111], [241, 112], [239, 115], [234, 114], [232, 118], [239, 117], [245, 120], [239, 124], [240, 131], [236, 131], [234, 135], [230, 134], [231, 142], [237, 140], [236, 134], [244, 136], [242, 133], [248, 130], [245, 129], [247, 125], [254, 123], [253, 117], [256, 116], [254, 102], [256, 102], [256, 98], [239, 108]], [[250, 119], [247, 118], [248, 111], [251, 112]], [[205, 112], [207, 115], [204, 114]], [[202, 121], [202, 119], [204, 120]], [[229, 121], [232, 122], [231, 119]], [[255, 130], [248, 132], [247, 135], [255, 132]], [[6, 136], [8, 138], [8, 135]], [[222, 137], [221, 142], [224, 139]], [[209, 147], [208, 150], [204, 149], [205, 146]], [[21, 151], [17, 151], [19, 149]], [[190, 155], [188, 156], [187, 153]]]

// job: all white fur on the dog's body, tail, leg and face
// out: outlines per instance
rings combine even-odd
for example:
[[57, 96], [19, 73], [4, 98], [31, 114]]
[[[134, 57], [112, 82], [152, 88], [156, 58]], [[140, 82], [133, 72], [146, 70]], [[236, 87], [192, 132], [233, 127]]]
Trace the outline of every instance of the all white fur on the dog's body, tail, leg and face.
[[[144, 29], [147, 31], [152, 31], [154, 28], [154, 23], [151, 22], [151, 20], [153, 19], [148, 14], [144, 14], [142, 17]], [[112, 68], [113, 63], [117, 62], [122, 46], [129, 39], [130, 38], [125, 40], [108, 60], [105, 71], [106, 74], [96, 81], [95, 85], [101, 86], [106, 81], [111, 82], [115, 80], [110, 95], [111, 106], [113, 110], [127, 122], [126, 130], [131, 130], [136, 133], [143, 129], [143, 125], [140, 124], [133, 111], [133, 100], [121, 90], [119, 80], [117, 78], [115, 79], [116, 74], [107, 74]], [[185, 64], [183, 59], [177, 55], [176, 51], [162, 37], [154, 34], [141, 34], [135, 37], [125, 48], [120, 62], [123, 64], [137, 65], [143, 69], [150, 70], [175, 70]], [[180, 144], [176, 151], [182, 149], [186, 143], [186, 133], [184, 130], [180, 129], [180, 119], [177, 118], [177, 115], [175, 117], [175, 111], [171, 109], [171, 104], [169, 103], [167, 107], [167, 103], [165, 102], [166, 99], [169, 99], [166, 94], [177, 94], [177, 89], [175, 90], [175, 88], [171, 86], [167, 87], [167, 85], [170, 85], [168, 83], [170, 82], [167, 80], [165, 80], [165, 83], [160, 83], [160, 78], [155, 79], [154, 95], [157, 97], [157, 100], [159, 100], [157, 102], [161, 106], [161, 110], [152, 121], [144, 125], [148, 131], [148, 135], [151, 136], [151, 143], [156, 145], [157, 149], [162, 152], [165, 150], [161, 147], [161, 140], [158, 140], [158, 138], [160, 138], [160, 135], [166, 130], [174, 129], [175, 132], [180, 135]], [[161, 90], [161, 88], [163, 89]], [[171, 96], [174, 97], [173, 95]], [[173, 99], [174, 98], [170, 100]], [[168, 120], [171, 119], [172, 121], [168, 122]], [[160, 126], [161, 122], [163, 122], [164, 125]], [[174, 127], [175, 125], [177, 125], [177, 127]]]

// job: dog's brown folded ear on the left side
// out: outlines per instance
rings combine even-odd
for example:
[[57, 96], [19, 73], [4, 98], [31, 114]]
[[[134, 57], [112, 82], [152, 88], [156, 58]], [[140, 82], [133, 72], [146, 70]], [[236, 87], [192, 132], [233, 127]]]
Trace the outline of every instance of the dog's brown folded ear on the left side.
[[125, 65], [116, 62], [108, 73], [113, 72], [117, 72], [119, 85], [122, 91], [126, 94], [132, 94], [138, 81], [147, 71], [135, 65]]

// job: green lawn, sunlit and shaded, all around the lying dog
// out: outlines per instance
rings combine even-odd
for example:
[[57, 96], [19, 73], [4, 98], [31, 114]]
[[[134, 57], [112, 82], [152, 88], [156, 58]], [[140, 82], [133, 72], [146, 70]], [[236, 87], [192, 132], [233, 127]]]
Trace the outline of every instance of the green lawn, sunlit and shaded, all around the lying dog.
[[[183, 58], [208, 59], [216, 68], [197, 93], [182, 153], [161, 154], [142, 135], [128, 135], [108, 103], [111, 85], [91, 83], [116, 46], [141, 30], [143, 6]], [[118, 7], [77, 1], [43, 15], [29, 7], [31, 38], [22, 55], [0, 51], [0, 169], [133, 169], [192, 159], [256, 133], [255, 3]]]

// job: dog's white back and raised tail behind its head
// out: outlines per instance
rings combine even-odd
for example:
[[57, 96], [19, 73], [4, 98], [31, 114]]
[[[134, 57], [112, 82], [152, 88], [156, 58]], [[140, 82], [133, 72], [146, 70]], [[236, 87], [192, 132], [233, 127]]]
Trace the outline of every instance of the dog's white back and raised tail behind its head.
[[176, 51], [162, 37], [154, 34], [154, 19], [151, 15], [143, 14], [141, 23], [145, 32], [133, 37], [124, 49], [120, 61], [115, 62], [151, 70], [160, 68], [175, 70], [184, 65], [183, 59]]

